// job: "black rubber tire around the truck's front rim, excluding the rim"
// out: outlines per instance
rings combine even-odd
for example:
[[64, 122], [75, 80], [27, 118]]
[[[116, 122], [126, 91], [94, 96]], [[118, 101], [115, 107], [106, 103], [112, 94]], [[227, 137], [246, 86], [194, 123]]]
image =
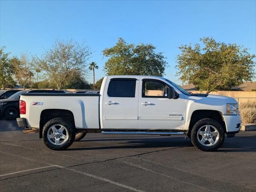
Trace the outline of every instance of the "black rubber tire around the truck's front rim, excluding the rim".
[[[199, 144], [197, 142], [197, 127], [202, 125], [202, 124], [212, 124], [214, 125], [218, 131], [220, 132], [219, 136], [220, 136], [220, 141], [219, 143], [216, 145], [216, 146], [213, 146], [213, 147], [207, 147], [207, 146], [202, 146], [201, 144]], [[205, 119], [201, 119], [199, 121], [197, 121], [192, 130], [191, 130], [191, 142], [192, 144], [198, 148], [199, 150], [202, 150], [202, 151], [207, 151], [207, 152], [212, 152], [212, 151], [216, 151], [219, 147], [221, 147], [221, 145], [223, 144], [224, 142], [224, 139], [225, 139], [225, 131], [223, 129], [223, 127], [221, 126], [221, 124], [219, 122], [217, 122], [216, 120], [214, 119], [211, 119], [211, 118], [205, 118]]]

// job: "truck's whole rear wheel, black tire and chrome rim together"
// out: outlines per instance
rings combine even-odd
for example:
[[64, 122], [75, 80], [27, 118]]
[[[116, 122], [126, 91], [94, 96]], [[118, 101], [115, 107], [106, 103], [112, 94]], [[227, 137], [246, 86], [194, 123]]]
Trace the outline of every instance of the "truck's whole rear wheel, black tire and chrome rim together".
[[43, 127], [43, 142], [52, 150], [65, 150], [75, 140], [75, 127], [64, 118], [49, 120]]

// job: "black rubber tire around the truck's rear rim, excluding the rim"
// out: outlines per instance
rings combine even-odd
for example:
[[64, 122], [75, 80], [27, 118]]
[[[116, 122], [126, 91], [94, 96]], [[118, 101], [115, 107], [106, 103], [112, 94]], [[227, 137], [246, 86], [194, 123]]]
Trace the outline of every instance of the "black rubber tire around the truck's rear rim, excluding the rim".
[[[53, 146], [47, 139], [47, 128], [49, 128], [49, 126], [51, 124], [63, 124], [65, 125], [65, 127], [68, 129], [69, 131], [69, 140], [67, 140], [67, 142], [63, 145], [60, 146]], [[44, 144], [52, 149], [52, 150], [65, 150], [67, 149], [69, 146], [71, 146], [71, 144], [74, 142], [75, 140], [75, 128], [73, 127], [73, 125], [71, 124], [71, 122], [69, 122], [68, 120], [64, 119], [64, 118], [53, 118], [51, 120], [49, 120], [45, 126], [43, 127], [43, 142]]]

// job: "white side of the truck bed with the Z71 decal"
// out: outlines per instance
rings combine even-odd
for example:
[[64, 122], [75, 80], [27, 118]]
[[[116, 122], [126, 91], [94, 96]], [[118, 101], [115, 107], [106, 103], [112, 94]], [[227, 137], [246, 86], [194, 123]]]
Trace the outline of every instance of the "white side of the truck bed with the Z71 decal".
[[[26, 101], [29, 127], [39, 128], [40, 116], [44, 110], [69, 110], [72, 112], [77, 129], [99, 129], [100, 94], [21, 94]], [[28, 113], [29, 112], [29, 113]]]

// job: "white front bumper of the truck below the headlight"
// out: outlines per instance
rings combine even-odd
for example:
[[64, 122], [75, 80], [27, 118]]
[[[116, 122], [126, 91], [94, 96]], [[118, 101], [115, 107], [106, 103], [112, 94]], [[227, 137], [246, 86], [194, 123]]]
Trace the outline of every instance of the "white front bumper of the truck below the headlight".
[[223, 115], [227, 134], [236, 134], [241, 128], [241, 116], [240, 115]]

